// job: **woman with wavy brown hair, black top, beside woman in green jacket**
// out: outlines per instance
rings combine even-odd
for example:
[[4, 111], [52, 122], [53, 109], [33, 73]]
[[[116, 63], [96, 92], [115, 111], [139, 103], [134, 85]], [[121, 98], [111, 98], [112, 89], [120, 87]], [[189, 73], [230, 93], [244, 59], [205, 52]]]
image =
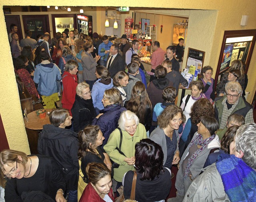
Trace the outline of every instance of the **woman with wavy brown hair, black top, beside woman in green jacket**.
[[[89, 163], [104, 163], [111, 170], [112, 164], [110, 162], [108, 154], [100, 147], [104, 140], [104, 136], [100, 131], [99, 126], [86, 126], [78, 133], [78, 159], [80, 164], [79, 181], [78, 181], [78, 200], [80, 199], [82, 192], [85, 188], [85, 183], [88, 183], [88, 176], [85, 172], [86, 166]], [[81, 179], [82, 178], [82, 179]]]

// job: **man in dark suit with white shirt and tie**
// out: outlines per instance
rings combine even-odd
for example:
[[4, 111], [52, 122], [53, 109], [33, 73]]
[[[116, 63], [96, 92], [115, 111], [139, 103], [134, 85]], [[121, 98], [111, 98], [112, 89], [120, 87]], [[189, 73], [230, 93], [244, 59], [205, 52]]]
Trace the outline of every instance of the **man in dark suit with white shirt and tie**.
[[109, 50], [110, 54], [107, 59], [106, 68], [110, 73], [111, 78], [114, 78], [117, 72], [124, 70], [125, 63], [122, 56], [118, 53], [119, 47], [113, 44]]

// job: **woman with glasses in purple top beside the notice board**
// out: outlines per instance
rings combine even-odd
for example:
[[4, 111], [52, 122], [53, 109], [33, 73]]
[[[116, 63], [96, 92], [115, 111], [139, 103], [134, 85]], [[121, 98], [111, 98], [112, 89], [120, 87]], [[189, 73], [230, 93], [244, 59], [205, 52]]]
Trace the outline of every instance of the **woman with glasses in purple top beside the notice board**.
[[204, 84], [203, 93], [212, 103], [215, 99], [215, 80], [212, 78], [212, 67], [204, 66], [201, 71], [201, 80]]

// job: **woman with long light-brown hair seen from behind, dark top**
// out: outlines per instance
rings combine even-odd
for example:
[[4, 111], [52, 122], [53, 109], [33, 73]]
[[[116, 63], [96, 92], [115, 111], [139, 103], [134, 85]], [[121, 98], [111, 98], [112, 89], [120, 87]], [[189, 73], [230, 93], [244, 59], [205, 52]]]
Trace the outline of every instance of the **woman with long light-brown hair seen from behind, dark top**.
[[138, 81], [132, 88], [132, 98], [126, 103], [126, 109], [134, 112], [140, 123], [150, 129], [152, 118], [152, 104], [148, 98], [145, 85]]

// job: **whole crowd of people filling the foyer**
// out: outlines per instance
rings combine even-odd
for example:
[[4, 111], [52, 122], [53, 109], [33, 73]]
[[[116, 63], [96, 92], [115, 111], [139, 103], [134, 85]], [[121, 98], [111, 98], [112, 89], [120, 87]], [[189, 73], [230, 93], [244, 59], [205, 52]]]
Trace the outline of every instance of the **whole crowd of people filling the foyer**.
[[53, 110], [38, 154], [0, 152], [3, 200], [256, 201], [256, 124], [240, 60], [216, 89], [212, 67], [203, 67], [179, 107], [179, 85], [188, 86], [179, 72], [183, 39], [166, 51], [155, 41], [147, 72], [139, 41], [125, 34], [111, 42], [65, 30], [49, 42], [48, 33], [36, 41], [28, 31], [19, 45], [11, 30], [17, 76]]

